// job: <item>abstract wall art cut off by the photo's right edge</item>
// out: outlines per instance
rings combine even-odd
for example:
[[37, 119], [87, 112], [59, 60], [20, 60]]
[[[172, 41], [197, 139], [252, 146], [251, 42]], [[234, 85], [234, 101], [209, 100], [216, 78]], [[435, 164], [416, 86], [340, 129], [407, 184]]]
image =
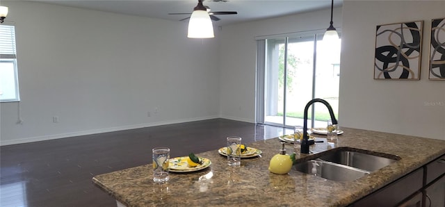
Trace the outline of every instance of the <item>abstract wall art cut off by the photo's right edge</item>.
[[430, 80], [445, 80], [445, 18], [431, 20]]

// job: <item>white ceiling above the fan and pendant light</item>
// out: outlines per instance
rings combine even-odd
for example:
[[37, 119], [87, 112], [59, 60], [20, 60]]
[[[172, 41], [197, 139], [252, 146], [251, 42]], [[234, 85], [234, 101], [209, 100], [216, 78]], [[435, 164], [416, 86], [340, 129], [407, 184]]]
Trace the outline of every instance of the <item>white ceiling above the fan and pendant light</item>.
[[[189, 15], [168, 15], [168, 13], [191, 13], [197, 0], [33, 0], [63, 6], [87, 8], [111, 13], [170, 19], [179, 21]], [[204, 0], [204, 6], [211, 11], [236, 11], [238, 15], [216, 15], [220, 21], [216, 26], [248, 22], [257, 19], [280, 17], [330, 8], [330, 0]], [[334, 7], [343, 0], [334, 0]], [[328, 21], [328, 19], [327, 19]], [[183, 21], [187, 22], [187, 21]]]

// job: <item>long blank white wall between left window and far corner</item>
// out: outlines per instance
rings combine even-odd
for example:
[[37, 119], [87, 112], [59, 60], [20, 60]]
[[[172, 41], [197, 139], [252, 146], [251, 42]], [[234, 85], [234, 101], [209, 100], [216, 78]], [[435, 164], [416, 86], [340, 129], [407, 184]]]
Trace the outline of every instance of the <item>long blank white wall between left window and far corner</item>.
[[188, 39], [184, 22], [1, 3], [16, 25], [24, 121], [1, 104], [2, 145], [220, 116], [218, 38]]

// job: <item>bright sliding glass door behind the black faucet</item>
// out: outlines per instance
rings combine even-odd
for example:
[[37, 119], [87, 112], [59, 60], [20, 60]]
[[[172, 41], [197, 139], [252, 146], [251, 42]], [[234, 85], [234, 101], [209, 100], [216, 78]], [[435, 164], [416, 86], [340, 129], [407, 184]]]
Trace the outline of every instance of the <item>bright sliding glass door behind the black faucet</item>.
[[[305, 105], [314, 98], [329, 102], [338, 117], [341, 40], [326, 45], [323, 32], [258, 40], [258, 123], [302, 126]], [[314, 104], [308, 118], [308, 126], [325, 127], [330, 116]]]

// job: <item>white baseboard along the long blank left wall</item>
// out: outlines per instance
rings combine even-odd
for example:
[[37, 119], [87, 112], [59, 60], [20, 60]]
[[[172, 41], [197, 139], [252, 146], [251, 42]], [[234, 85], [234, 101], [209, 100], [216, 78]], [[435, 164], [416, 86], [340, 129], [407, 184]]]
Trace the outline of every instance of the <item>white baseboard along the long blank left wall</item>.
[[[219, 116], [208, 116], [208, 117], [195, 117], [191, 119], [175, 119], [165, 122], [152, 122], [152, 123], [145, 123], [145, 124], [134, 124], [129, 126], [118, 126], [118, 127], [111, 127], [106, 129], [92, 129], [87, 131], [76, 131], [71, 133], [60, 133], [55, 135], [42, 135], [32, 138], [21, 138], [16, 140], [0, 140], [0, 146], [4, 145], [10, 145], [10, 144], [23, 144], [28, 142], [38, 142], [38, 141], [44, 141], [44, 140], [55, 140], [55, 139], [61, 139], [61, 138], [71, 138], [81, 135], [91, 135], [96, 133], [106, 133], [106, 132], [113, 132], [113, 131], [122, 131], [122, 130], [128, 130], [128, 129], [140, 129], [145, 128], [149, 126], [161, 126], [166, 124], [178, 124], [178, 123], [184, 123], [184, 122], [195, 122], [195, 121], [202, 121], [207, 119], [217, 119], [220, 118]], [[235, 119], [236, 120], [236, 119]]]

